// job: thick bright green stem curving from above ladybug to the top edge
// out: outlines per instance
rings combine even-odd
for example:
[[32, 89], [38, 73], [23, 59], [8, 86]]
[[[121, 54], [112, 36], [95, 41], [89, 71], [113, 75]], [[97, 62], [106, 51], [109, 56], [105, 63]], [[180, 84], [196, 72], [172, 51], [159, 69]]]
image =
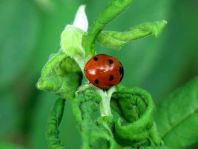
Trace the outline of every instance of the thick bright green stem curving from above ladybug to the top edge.
[[111, 3], [102, 11], [99, 17], [91, 26], [85, 39], [86, 57], [89, 58], [95, 54], [94, 42], [97, 35], [102, 31], [106, 24], [124, 11], [133, 0], [112, 0]]

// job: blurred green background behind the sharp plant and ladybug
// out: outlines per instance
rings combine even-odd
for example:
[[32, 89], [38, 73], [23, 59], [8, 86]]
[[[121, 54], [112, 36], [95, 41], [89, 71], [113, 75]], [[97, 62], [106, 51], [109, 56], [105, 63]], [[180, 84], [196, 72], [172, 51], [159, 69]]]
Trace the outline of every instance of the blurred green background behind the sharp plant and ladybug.
[[[42, 66], [60, 47], [60, 33], [72, 23], [80, 4], [87, 5], [89, 22], [110, 0], [0, 0], [0, 149], [45, 149], [47, 118], [56, 99], [35, 88]], [[166, 19], [158, 37], [102, 49], [121, 59], [123, 84], [148, 90], [160, 100], [198, 74], [198, 1], [135, 0], [106, 29], [125, 30], [135, 24]], [[81, 142], [70, 105], [61, 125], [66, 149]], [[10, 144], [10, 145], [8, 145]], [[196, 145], [194, 145], [196, 148]]]

